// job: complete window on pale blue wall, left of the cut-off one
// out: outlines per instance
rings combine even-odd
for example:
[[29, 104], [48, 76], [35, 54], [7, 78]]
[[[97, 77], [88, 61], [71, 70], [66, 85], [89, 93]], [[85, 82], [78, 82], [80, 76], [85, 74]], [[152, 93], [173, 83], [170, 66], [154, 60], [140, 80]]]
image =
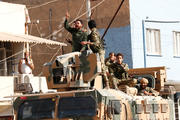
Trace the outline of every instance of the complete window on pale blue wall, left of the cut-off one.
[[146, 29], [147, 54], [161, 55], [160, 30]]

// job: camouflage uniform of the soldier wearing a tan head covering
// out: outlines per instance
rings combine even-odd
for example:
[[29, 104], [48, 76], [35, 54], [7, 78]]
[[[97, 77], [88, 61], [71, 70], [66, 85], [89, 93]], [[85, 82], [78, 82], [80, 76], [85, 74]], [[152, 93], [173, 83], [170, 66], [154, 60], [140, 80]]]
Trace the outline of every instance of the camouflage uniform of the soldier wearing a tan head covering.
[[158, 96], [159, 92], [153, 90], [150, 87], [146, 87], [145, 89], [139, 87], [138, 88], [138, 95], [145, 96], [146, 94], [144, 92], [152, 93], [153, 96]]

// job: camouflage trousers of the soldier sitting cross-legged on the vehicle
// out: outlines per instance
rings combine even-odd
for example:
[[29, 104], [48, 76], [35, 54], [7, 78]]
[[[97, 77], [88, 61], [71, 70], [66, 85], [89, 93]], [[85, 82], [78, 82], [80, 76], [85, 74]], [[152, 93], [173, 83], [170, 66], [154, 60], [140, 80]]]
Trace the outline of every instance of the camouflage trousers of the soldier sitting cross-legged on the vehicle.
[[116, 77], [110, 77], [110, 88], [118, 89], [121, 85], [127, 85], [129, 87], [135, 86], [137, 83], [137, 79], [131, 79], [131, 78], [124, 78], [124, 79], [118, 79]]

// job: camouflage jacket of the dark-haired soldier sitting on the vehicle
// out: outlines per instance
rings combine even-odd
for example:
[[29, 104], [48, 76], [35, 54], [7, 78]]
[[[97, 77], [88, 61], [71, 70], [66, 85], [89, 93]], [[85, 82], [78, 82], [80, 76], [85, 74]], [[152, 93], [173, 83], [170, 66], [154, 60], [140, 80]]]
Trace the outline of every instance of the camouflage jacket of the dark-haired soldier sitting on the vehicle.
[[128, 78], [128, 73], [127, 71], [129, 70], [128, 64], [122, 63], [113, 63], [109, 66], [109, 72], [112, 77], [116, 77], [118, 79], [127, 79]]

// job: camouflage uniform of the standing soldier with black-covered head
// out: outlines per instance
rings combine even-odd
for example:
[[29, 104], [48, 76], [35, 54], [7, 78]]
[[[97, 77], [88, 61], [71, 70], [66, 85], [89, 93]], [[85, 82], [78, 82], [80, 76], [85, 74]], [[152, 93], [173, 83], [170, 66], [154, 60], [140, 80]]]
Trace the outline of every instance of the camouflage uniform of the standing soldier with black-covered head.
[[91, 29], [91, 34], [88, 36], [88, 39], [92, 43], [90, 45], [90, 48], [93, 51], [93, 53], [99, 53], [103, 77], [106, 82], [106, 87], [109, 88], [109, 82], [108, 82], [108, 78], [106, 75], [106, 67], [105, 67], [105, 63], [104, 63], [104, 61], [105, 61], [104, 45], [101, 41], [100, 34], [96, 28]]

